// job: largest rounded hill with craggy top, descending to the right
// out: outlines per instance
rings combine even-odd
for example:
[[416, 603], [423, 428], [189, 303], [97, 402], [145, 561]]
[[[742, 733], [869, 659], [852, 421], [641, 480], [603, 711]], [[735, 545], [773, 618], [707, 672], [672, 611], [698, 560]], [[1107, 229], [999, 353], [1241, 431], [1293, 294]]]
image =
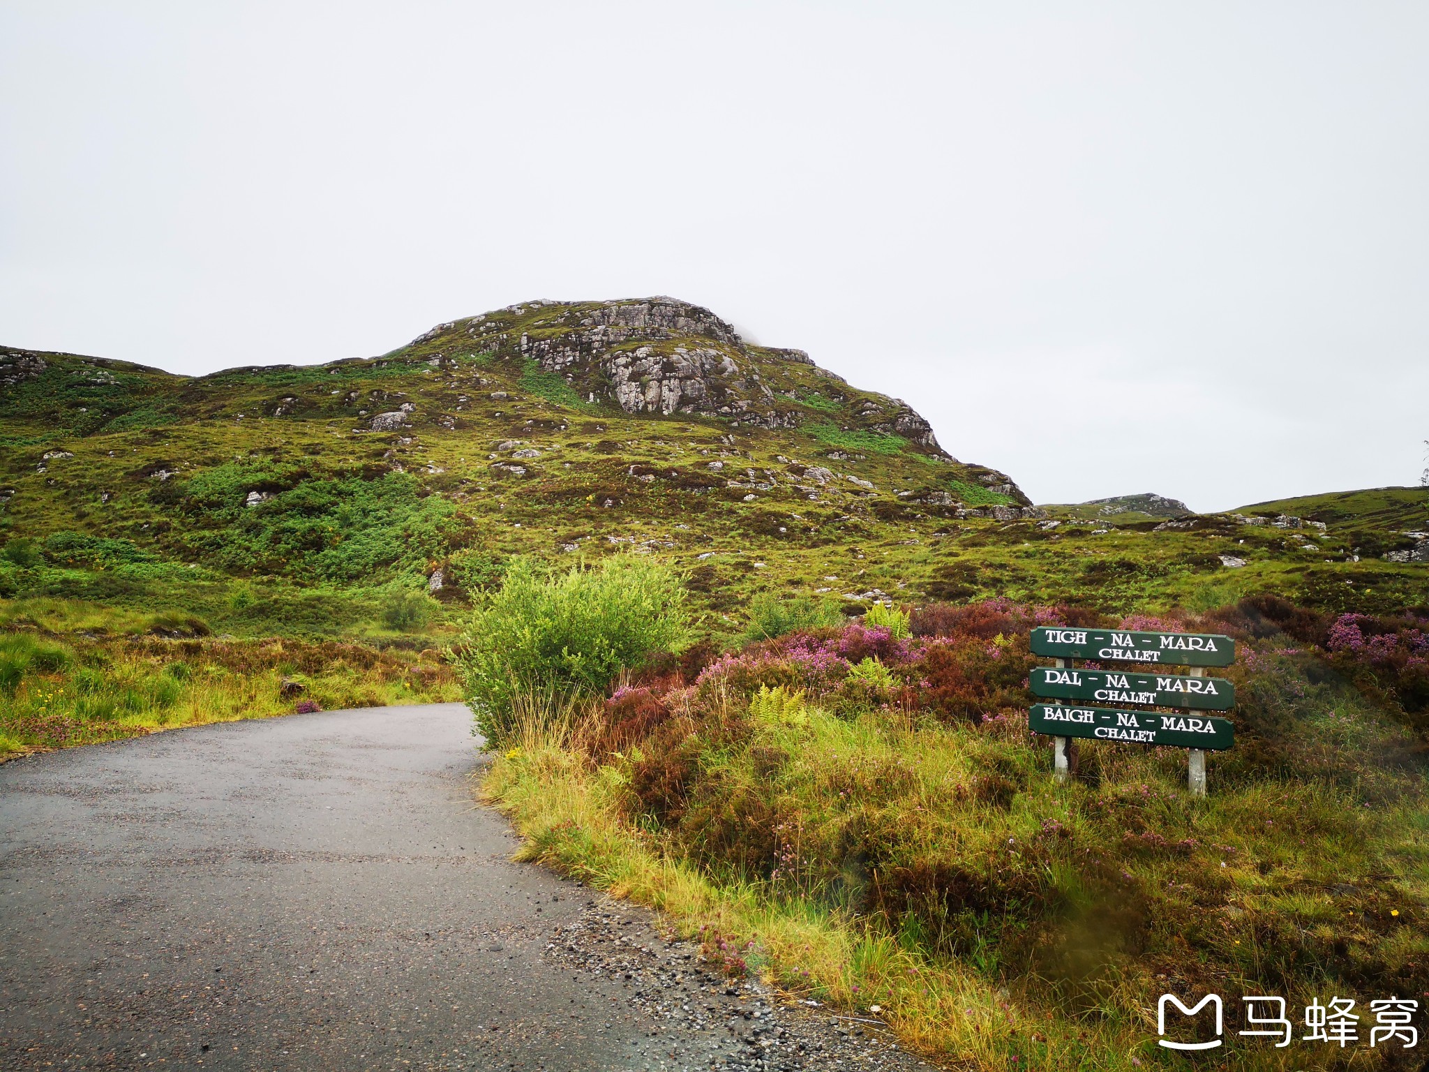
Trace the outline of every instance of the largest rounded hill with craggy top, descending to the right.
[[[0, 595], [252, 579], [460, 599], [483, 556], [623, 549], [687, 562], [714, 603], [755, 569], [863, 597], [879, 586], [822, 580], [863, 567], [796, 563], [1029, 502], [907, 403], [669, 297], [527, 302], [380, 357], [200, 377], [0, 347], [0, 526], [70, 570], [0, 562]], [[753, 565], [770, 555], [777, 573]], [[217, 603], [226, 627], [256, 613]], [[313, 617], [346, 627], [340, 609]]]

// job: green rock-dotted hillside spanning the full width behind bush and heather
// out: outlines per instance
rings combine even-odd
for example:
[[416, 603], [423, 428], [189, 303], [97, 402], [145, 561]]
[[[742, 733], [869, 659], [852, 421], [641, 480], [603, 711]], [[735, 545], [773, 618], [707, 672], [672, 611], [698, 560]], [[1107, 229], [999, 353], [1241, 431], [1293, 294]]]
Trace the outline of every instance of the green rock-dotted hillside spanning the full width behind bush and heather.
[[[1333, 610], [1426, 600], [1423, 566], [1376, 557], [1425, 525], [1425, 492], [1248, 507], [1328, 512], [1313, 539], [1029, 509], [905, 403], [673, 299], [532, 302], [380, 357], [201, 377], [0, 347], [0, 625], [76, 657], [139, 637], [342, 642], [420, 663], [422, 695], [439, 695], [439, 649], [516, 555], [670, 560], [717, 643], [759, 593], [850, 613], [987, 596], [1117, 613], [1256, 590]], [[319, 662], [307, 673], [332, 679]], [[296, 695], [244, 703], [289, 710]]]

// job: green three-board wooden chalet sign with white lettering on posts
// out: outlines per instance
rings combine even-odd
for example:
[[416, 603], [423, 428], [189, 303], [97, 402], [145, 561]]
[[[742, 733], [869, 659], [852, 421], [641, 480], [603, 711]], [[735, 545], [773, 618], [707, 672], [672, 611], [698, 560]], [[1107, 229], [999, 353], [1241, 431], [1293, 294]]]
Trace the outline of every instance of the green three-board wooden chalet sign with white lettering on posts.
[[[1027, 685], [1033, 695], [1057, 702], [1033, 705], [1027, 728], [1052, 738], [1053, 778], [1059, 783], [1072, 778], [1072, 738], [1086, 738], [1185, 748], [1186, 785], [1193, 796], [1206, 795], [1206, 752], [1232, 748], [1235, 728], [1226, 719], [1196, 712], [1235, 706], [1235, 686], [1223, 678], [1208, 678], [1205, 669], [1230, 666], [1235, 640], [1213, 633], [1039, 626], [1032, 630], [1032, 652], [1053, 659], [1053, 666], [1032, 670]], [[1135, 663], [1140, 669], [1079, 669], [1076, 659]], [[1163, 666], [1189, 666], [1190, 672], [1169, 673]], [[1073, 706], [1066, 700], [1119, 706]]]

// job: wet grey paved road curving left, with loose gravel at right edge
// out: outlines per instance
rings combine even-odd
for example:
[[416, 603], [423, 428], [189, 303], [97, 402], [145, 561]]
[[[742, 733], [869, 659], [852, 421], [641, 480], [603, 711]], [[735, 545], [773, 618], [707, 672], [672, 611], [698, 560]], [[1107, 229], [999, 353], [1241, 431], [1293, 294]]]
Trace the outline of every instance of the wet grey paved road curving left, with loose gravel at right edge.
[[510, 860], [462, 705], [0, 765], [0, 1068], [903, 1069]]

